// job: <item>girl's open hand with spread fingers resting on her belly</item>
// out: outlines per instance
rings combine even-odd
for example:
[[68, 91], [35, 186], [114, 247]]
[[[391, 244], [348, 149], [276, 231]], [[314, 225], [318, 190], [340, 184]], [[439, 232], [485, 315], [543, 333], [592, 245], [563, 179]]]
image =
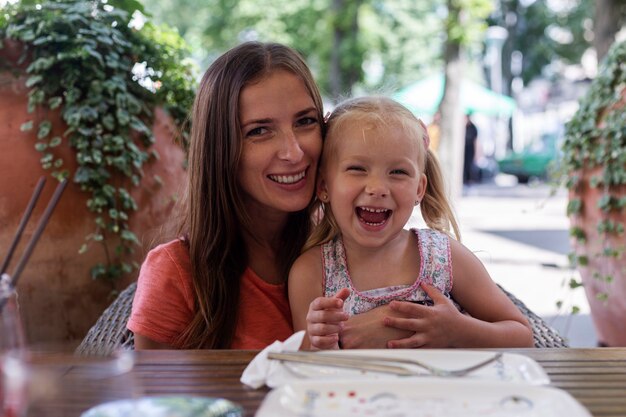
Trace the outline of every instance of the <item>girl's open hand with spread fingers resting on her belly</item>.
[[454, 347], [458, 325], [465, 316], [437, 288], [426, 283], [420, 285], [435, 304], [424, 306], [407, 301], [389, 303], [391, 309], [404, 318], [385, 317], [385, 326], [408, 330], [413, 332], [413, 335], [404, 339], [390, 340], [387, 347], [390, 349]]

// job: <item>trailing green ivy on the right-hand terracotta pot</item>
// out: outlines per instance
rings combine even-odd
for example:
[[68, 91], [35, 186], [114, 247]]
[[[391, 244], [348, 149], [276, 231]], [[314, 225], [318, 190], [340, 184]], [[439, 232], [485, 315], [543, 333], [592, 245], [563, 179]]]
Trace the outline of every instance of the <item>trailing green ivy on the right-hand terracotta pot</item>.
[[[580, 101], [578, 111], [566, 125], [562, 172], [570, 191], [567, 213], [580, 216], [586, 205], [596, 204], [603, 214], [596, 229], [599, 235], [605, 236], [599, 253], [571, 254], [574, 266], [587, 267], [591, 257], [618, 259], [624, 256], [624, 216], [616, 214], [623, 214], [626, 210], [625, 89], [626, 42], [622, 41], [613, 45]], [[582, 173], [595, 168], [600, 168], [599, 174], [592, 176], [588, 184], [583, 184]], [[601, 197], [597, 201], [585, 200], [582, 197], [585, 186], [598, 188]], [[588, 238], [577, 226], [570, 228], [570, 235], [581, 244]], [[597, 271], [594, 277], [606, 282], [617, 278]], [[570, 282], [570, 287], [576, 286], [579, 283]], [[606, 299], [608, 294], [598, 297]]]

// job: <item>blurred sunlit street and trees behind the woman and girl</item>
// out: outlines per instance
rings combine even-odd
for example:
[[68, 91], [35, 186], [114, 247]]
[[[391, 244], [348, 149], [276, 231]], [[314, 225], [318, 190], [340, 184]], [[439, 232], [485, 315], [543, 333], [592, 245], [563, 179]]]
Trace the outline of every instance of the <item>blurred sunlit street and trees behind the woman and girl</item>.
[[429, 125], [463, 242], [572, 346], [596, 345], [584, 294], [570, 288], [555, 161], [598, 62], [626, 39], [624, 0], [107, 2], [134, 11], [134, 27], [167, 26], [197, 78], [243, 41], [275, 41], [305, 57], [328, 110], [364, 94], [405, 104]]

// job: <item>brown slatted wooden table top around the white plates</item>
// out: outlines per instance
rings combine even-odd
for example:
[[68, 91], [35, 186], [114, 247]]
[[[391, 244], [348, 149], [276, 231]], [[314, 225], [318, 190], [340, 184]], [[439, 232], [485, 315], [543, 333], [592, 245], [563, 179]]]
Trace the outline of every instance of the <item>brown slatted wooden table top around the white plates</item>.
[[[626, 416], [626, 348], [508, 349], [539, 362], [552, 386], [569, 392], [594, 417]], [[144, 394], [227, 398], [252, 417], [268, 389], [239, 382], [256, 351], [138, 351], [135, 372]], [[565, 416], [567, 417], [567, 416]]]

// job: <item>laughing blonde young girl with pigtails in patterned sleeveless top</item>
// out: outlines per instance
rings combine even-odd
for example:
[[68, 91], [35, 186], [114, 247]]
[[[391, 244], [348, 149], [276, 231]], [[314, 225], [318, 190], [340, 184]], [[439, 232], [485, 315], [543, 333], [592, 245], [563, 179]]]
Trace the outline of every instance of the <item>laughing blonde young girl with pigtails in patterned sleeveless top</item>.
[[[384, 324], [407, 332], [390, 348], [533, 345], [523, 314], [450, 239], [458, 227], [427, 141], [388, 98], [348, 100], [330, 116], [317, 180], [324, 215], [289, 274], [302, 348], [341, 347], [348, 317], [387, 303], [404, 318]], [[417, 205], [429, 229], [405, 230]]]

